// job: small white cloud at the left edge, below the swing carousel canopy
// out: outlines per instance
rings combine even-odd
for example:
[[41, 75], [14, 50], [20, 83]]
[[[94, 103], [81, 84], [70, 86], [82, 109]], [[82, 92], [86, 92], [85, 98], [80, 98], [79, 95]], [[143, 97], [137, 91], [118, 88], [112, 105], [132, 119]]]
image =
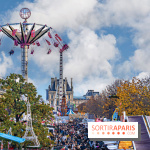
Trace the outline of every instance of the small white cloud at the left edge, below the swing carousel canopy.
[[13, 62], [10, 57], [6, 57], [5, 53], [2, 51], [0, 57], [0, 76], [4, 77], [8, 72], [8, 69], [13, 66]]

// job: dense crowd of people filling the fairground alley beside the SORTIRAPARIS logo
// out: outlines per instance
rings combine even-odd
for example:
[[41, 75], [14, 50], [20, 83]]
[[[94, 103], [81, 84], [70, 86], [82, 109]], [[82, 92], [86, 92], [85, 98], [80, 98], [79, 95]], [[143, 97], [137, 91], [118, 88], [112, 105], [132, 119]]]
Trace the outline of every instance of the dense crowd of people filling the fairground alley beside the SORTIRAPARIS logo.
[[54, 150], [107, 150], [102, 141], [90, 141], [88, 129], [81, 121], [81, 119], [75, 119], [73, 122], [56, 126]]

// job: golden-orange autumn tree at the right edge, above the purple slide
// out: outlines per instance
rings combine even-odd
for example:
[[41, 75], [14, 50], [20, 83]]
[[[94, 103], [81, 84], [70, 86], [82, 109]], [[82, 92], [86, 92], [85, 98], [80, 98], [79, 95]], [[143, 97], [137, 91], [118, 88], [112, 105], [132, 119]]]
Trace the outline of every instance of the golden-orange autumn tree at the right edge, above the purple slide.
[[117, 90], [119, 99], [116, 105], [127, 115], [150, 115], [150, 89], [147, 85], [136, 78], [123, 82]]

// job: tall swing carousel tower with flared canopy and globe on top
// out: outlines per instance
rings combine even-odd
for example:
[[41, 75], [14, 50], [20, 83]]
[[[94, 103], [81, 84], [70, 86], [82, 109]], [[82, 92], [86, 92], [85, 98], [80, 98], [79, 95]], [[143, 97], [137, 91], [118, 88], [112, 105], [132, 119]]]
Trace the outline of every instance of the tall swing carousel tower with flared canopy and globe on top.
[[[20, 45], [21, 52], [21, 68], [22, 68], [22, 76], [28, 82], [28, 49], [30, 45], [36, 44], [37, 41], [41, 38], [45, 33], [47, 33], [51, 27], [47, 25], [40, 25], [36, 23], [28, 23], [27, 19], [31, 16], [31, 11], [28, 8], [22, 8], [20, 10], [20, 17], [24, 19], [23, 23], [13, 23], [6, 24], [1, 26], [1, 31], [7, 35], [10, 39], [14, 41], [14, 45]], [[19, 29], [15, 27], [19, 26]], [[39, 29], [35, 30], [35, 26], [38, 26]], [[30, 27], [30, 28], [29, 28]], [[14, 53], [14, 51], [10, 52], [10, 54]]]

